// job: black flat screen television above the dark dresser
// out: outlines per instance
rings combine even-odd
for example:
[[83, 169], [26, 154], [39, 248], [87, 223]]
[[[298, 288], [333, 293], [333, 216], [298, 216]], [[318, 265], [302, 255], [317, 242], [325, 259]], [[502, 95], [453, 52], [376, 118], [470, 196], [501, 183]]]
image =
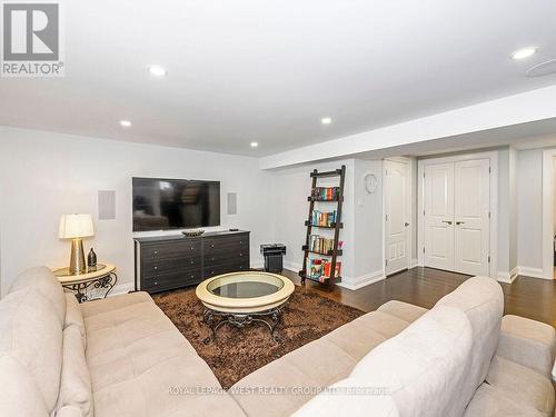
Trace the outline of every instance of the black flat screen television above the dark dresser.
[[220, 226], [220, 181], [133, 178], [133, 231]]

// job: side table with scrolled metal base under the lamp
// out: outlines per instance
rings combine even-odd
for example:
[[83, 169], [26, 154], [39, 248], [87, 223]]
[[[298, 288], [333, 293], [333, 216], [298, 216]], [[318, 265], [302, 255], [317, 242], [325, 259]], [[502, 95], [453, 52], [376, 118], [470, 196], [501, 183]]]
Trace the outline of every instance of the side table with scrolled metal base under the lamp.
[[116, 266], [112, 264], [97, 264], [96, 267], [87, 267], [85, 274], [70, 275], [69, 268], [52, 269], [63, 288], [76, 294], [78, 302], [90, 301], [100, 297], [91, 298], [91, 290], [106, 290], [103, 298], [118, 282]]

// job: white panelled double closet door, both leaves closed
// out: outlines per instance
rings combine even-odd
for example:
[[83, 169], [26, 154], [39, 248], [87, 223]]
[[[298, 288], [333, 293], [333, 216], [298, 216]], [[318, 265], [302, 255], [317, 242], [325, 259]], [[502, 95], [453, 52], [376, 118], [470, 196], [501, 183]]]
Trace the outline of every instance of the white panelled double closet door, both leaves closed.
[[424, 167], [425, 266], [488, 276], [490, 161]]

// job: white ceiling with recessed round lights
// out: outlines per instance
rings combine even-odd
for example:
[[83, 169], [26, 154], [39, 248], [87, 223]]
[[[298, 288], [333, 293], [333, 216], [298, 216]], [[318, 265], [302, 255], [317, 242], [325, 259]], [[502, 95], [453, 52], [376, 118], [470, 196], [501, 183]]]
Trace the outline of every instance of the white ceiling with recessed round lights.
[[[0, 79], [0, 125], [267, 156], [556, 83], [524, 77], [556, 58], [554, 1], [63, 7], [66, 78]], [[509, 59], [525, 46], [539, 51]]]

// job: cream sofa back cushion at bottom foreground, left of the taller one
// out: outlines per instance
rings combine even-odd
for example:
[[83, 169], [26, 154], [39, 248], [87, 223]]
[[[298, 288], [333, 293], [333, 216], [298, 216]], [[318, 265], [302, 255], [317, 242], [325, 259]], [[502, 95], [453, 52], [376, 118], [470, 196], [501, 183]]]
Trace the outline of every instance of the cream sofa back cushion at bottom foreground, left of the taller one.
[[460, 416], [454, 407], [471, 357], [471, 326], [453, 307], [435, 307], [363, 358], [350, 374], [391, 395], [401, 416]]

